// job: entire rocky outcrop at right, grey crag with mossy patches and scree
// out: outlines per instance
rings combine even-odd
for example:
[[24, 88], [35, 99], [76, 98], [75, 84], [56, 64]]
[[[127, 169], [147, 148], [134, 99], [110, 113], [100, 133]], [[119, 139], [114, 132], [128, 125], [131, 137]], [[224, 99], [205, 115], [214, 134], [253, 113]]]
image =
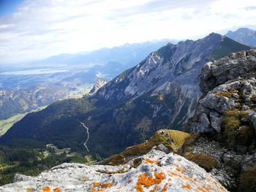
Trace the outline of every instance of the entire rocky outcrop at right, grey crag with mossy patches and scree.
[[[255, 191], [256, 50], [232, 53], [202, 68], [203, 93], [188, 131], [203, 134], [184, 156], [208, 168], [230, 191]], [[206, 162], [215, 162], [207, 164]]]

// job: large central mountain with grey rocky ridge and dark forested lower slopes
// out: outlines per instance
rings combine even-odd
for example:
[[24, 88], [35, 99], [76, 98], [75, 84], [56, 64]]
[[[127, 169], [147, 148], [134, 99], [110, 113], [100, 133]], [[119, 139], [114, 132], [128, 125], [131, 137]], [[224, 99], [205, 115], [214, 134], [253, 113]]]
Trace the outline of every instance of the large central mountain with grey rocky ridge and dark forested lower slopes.
[[181, 129], [194, 115], [201, 96], [199, 74], [203, 64], [228, 51], [248, 49], [219, 34], [168, 44], [93, 96], [57, 102], [27, 115], [0, 141], [23, 146], [30, 145], [24, 139], [36, 139], [84, 150], [87, 135], [80, 120], [89, 127], [91, 153], [103, 157], [119, 153], [144, 142], [160, 128]]

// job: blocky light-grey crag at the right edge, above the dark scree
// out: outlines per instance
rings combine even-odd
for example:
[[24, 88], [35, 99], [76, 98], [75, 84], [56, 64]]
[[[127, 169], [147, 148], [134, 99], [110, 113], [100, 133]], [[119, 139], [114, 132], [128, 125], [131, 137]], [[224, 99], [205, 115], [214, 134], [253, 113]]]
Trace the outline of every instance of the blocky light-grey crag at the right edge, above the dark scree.
[[204, 65], [200, 81], [204, 96], [198, 102], [190, 131], [219, 133], [225, 112], [236, 109], [247, 112], [242, 120], [256, 127], [255, 72], [256, 50], [232, 53]]

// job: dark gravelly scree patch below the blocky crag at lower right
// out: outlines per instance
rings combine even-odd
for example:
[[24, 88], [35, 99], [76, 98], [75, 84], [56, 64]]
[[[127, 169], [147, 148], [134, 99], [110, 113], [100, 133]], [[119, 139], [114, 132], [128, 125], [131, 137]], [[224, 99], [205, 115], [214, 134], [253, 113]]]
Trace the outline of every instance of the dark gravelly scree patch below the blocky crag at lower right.
[[223, 147], [217, 141], [205, 137], [197, 139], [195, 145], [191, 148], [191, 153], [210, 155], [217, 161], [217, 166], [209, 172], [219, 180], [225, 188], [238, 188], [238, 177], [240, 170], [256, 166], [256, 152], [251, 154], [235, 152]]

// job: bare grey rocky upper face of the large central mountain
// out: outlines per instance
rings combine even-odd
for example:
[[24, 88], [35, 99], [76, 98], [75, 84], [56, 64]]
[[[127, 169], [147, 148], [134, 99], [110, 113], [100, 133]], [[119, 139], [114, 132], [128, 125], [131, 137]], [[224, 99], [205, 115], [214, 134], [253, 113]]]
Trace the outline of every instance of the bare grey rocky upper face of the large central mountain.
[[195, 42], [168, 44], [110, 81], [95, 97], [116, 102], [132, 100], [146, 93], [168, 95], [173, 100], [170, 127], [180, 128], [194, 115], [201, 96], [198, 86], [201, 67], [211, 60], [211, 54], [220, 47], [223, 38], [219, 34], [210, 34]]

